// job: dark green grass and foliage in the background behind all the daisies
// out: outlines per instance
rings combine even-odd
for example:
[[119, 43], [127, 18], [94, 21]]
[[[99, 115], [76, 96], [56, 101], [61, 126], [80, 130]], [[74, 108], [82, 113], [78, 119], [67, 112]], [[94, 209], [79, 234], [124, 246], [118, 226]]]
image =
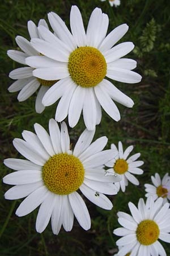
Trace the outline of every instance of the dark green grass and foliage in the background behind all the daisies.
[[[170, 2], [169, 0], [121, 0], [117, 7], [99, 0], [39, 0], [39, 1], [2, 1], [0, 6], [0, 73], [1, 73], [1, 176], [12, 170], [3, 166], [3, 159], [20, 157], [12, 146], [12, 139], [21, 138], [24, 129], [33, 131], [33, 124], [40, 123], [48, 127], [48, 120], [54, 117], [56, 104], [45, 109], [40, 115], [35, 113], [33, 95], [25, 102], [18, 102], [17, 93], [9, 93], [7, 88], [12, 83], [8, 73], [19, 64], [10, 60], [7, 49], [17, 49], [15, 36], [28, 38], [27, 21], [36, 24], [40, 18], [47, 20], [49, 11], [58, 13], [69, 25], [71, 5], [78, 5], [82, 12], [84, 24], [87, 26], [91, 11], [101, 7], [109, 15], [109, 31], [114, 27], [128, 23], [129, 31], [122, 42], [131, 41], [135, 49], [128, 57], [137, 60], [136, 71], [143, 76], [139, 84], [114, 82], [124, 93], [133, 98], [133, 109], [118, 105], [121, 121], [114, 122], [103, 112], [103, 118], [96, 127], [95, 138], [107, 135], [108, 148], [111, 143], [122, 141], [124, 148], [135, 145], [133, 152], [141, 152], [141, 160], [145, 161], [143, 175], [138, 176], [140, 185], [130, 184], [126, 192], [110, 196], [114, 207], [107, 211], [86, 201], [90, 211], [92, 226], [85, 232], [76, 221], [69, 233], [63, 229], [54, 236], [50, 225], [42, 233], [36, 233], [35, 221], [37, 210], [25, 217], [16, 217], [15, 210], [20, 201], [5, 200], [3, 195], [10, 188], [1, 183], [1, 218], [0, 218], [0, 255], [2, 256], [107, 256], [117, 251], [118, 237], [112, 231], [118, 227], [117, 211], [128, 212], [128, 202], [137, 203], [145, 196], [144, 184], [150, 183], [150, 176], [159, 172], [160, 176], [169, 172], [169, 129], [170, 129]], [[84, 130], [82, 119], [70, 129], [73, 144]], [[163, 244], [170, 256], [170, 246]], [[145, 256], [145, 255], [143, 255]]]

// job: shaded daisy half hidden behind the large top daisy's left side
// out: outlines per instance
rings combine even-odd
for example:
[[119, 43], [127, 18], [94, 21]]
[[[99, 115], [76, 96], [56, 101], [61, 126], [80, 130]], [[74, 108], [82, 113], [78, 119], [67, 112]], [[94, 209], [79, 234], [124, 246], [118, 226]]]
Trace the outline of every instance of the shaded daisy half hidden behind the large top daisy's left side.
[[[44, 19], [40, 19], [39, 26], [43, 26], [48, 30], [48, 24], [45, 22]], [[31, 38], [41, 38], [39, 31], [35, 23], [32, 20], [28, 21], [28, 32]], [[7, 55], [12, 59], [17, 61], [20, 64], [25, 64], [25, 59], [28, 56], [40, 56], [40, 52], [36, 51], [31, 45], [31, 43], [23, 38], [23, 36], [16, 36], [16, 43], [22, 49], [21, 51], [16, 50], [8, 50]], [[45, 56], [42, 56], [42, 59], [46, 59]], [[51, 60], [52, 61], [52, 60]], [[36, 97], [36, 104], [35, 109], [37, 113], [42, 113], [45, 109], [45, 106], [42, 105], [42, 97], [46, 91], [56, 83], [56, 81], [46, 81], [43, 79], [39, 79], [32, 75], [33, 68], [31, 67], [24, 67], [24, 68], [17, 68], [10, 72], [9, 77], [11, 79], [17, 79], [9, 88], [9, 92], [19, 92], [18, 100], [25, 101], [27, 98], [32, 96], [33, 93], [40, 87], [40, 90]]]

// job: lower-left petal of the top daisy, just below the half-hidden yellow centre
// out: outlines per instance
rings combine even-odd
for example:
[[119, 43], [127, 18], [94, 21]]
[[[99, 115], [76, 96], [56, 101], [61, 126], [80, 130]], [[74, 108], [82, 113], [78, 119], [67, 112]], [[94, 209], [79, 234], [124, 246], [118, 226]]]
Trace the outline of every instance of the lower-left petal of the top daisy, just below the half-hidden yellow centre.
[[48, 91], [42, 98], [42, 104], [44, 106], [52, 105], [63, 95], [68, 79], [69, 78], [67, 77], [66, 79], [59, 80], [58, 82], [56, 82], [56, 84], [48, 89]]

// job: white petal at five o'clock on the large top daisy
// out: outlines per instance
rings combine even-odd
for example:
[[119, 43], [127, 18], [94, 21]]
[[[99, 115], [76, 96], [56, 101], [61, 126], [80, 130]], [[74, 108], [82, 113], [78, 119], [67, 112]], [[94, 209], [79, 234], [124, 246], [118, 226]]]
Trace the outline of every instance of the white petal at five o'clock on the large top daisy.
[[120, 113], [117, 109], [117, 106], [114, 104], [108, 93], [103, 89], [103, 84], [104, 81], [95, 86], [97, 100], [100, 102], [100, 105], [110, 117], [112, 117], [115, 121], [119, 121]]

